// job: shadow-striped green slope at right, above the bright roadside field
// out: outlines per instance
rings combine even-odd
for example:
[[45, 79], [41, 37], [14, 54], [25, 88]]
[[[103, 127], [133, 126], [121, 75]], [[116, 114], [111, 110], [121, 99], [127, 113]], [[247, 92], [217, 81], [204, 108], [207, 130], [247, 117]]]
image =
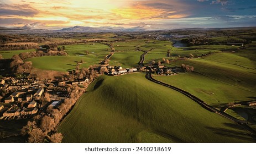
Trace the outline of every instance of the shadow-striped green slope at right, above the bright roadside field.
[[[196, 72], [205, 75], [208, 78], [221, 81], [222, 83], [239, 87], [244, 90], [255, 91], [256, 70], [252, 68], [253, 62], [250, 64], [242, 64], [243, 62], [246, 63], [247, 59], [241, 57], [239, 60], [241, 65], [234, 64], [234, 61], [237, 61], [235, 60], [237, 57], [233, 56], [232, 53], [228, 53], [226, 55], [226, 61], [222, 63], [218, 62], [218, 60], [214, 60], [215, 56], [218, 56], [218, 54], [220, 53], [212, 54], [205, 59], [188, 59], [186, 61], [172, 62], [171, 64], [180, 65], [184, 63], [192, 65], [195, 67]], [[243, 65], [249, 65], [250, 68], [245, 68]]]

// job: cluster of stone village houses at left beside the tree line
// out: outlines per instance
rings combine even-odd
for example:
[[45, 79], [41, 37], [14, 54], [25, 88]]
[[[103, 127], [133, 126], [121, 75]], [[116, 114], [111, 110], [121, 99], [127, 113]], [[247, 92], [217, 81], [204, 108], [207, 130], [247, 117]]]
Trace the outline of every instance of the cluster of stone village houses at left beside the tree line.
[[69, 96], [69, 87], [85, 85], [87, 78], [77, 80], [36, 80], [33, 78], [0, 79], [0, 90], [6, 94], [0, 98], [0, 120], [33, 118], [54, 108]]

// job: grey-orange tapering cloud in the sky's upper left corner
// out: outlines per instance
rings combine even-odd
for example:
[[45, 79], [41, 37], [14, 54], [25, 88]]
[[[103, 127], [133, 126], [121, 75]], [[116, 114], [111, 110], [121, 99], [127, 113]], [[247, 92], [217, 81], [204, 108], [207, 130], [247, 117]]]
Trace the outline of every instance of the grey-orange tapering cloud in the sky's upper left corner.
[[33, 17], [39, 10], [32, 8], [29, 4], [4, 4], [0, 3], [0, 15], [19, 15]]

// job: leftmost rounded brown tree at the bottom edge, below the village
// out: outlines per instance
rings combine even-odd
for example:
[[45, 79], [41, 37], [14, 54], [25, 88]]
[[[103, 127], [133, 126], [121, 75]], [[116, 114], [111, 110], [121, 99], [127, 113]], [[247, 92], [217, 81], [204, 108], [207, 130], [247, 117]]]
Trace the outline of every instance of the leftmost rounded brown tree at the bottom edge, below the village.
[[30, 143], [42, 143], [44, 142], [45, 133], [40, 128], [35, 128], [29, 134], [28, 142]]

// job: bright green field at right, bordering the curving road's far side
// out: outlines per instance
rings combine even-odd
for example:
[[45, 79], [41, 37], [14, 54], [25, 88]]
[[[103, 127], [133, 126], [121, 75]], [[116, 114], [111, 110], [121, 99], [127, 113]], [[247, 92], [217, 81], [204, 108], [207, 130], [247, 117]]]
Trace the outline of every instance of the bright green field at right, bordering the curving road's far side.
[[213, 107], [221, 108], [231, 102], [250, 101], [256, 95], [254, 92], [226, 84], [198, 73], [184, 73], [174, 76], [154, 76], [164, 83], [184, 89], [201, 98]]

